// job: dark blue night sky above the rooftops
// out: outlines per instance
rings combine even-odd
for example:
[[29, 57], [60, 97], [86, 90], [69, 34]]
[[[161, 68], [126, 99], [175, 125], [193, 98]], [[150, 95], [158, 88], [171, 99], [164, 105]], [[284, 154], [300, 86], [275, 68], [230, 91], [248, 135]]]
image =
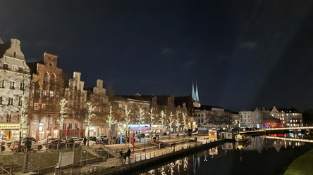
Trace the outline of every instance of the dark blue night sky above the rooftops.
[[116, 94], [188, 96], [230, 110], [313, 108], [313, 1], [6, 1], [0, 37], [27, 63]]

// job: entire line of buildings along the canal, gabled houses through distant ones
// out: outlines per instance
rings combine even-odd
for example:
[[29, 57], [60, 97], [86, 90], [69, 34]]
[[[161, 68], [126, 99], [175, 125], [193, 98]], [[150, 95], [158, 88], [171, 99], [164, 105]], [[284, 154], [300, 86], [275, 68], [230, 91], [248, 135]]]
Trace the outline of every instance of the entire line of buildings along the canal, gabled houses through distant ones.
[[[85, 87], [80, 72], [68, 78], [57, 66], [58, 56], [44, 53], [43, 61], [26, 63], [18, 39], [0, 40], [0, 134], [11, 140], [32, 136], [47, 137], [119, 136], [125, 131], [168, 130], [177, 133], [197, 127], [255, 127], [282, 122], [302, 125], [295, 110], [258, 109], [231, 112], [201, 105], [197, 84], [189, 96], [108, 96], [102, 79], [93, 88]], [[60, 126], [61, 99], [66, 100], [66, 116]], [[25, 100], [24, 100], [25, 99]], [[86, 126], [87, 103], [94, 110], [91, 126]], [[27, 121], [21, 122], [27, 104]], [[111, 124], [108, 116], [113, 117]], [[111, 128], [111, 130], [109, 130]]]

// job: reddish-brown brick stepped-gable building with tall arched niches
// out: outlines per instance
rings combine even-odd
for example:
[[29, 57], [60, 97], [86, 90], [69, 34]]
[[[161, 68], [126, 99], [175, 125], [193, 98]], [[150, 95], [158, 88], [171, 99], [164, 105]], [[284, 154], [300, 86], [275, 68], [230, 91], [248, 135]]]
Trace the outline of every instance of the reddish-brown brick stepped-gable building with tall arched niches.
[[32, 75], [30, 91], [30, 136], [37, 140], [59, 136], [60, 101], [66, 86], [58, 56], [44, 53], [44, 61], [28, 63]]

